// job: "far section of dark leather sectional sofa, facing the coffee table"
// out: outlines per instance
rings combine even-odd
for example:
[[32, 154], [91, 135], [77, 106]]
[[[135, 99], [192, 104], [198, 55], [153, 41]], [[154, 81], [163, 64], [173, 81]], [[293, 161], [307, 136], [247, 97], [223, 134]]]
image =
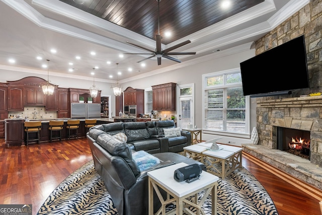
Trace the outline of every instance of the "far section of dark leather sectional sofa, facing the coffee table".
[[147, 122], [114, 122], [96, 125], [93, 128], [103, 130], [110, 135], [119, 132], [127, 136], [131, 150], [145, 151], [150, 154], [162, 152], [182, 152], [191, 145], [191, 133], [180, 131], [179, 136], [165, 137], [164, 129], [175, 128], [173, 120]]

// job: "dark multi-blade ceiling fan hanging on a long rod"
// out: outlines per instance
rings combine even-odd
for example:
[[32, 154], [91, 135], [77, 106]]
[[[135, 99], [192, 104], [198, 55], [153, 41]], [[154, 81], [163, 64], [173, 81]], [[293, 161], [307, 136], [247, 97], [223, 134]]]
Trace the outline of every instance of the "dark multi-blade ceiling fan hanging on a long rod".
[[171, 57], [169, 55], [186, 55], [186, 54], [196, 54], [196, 52], [170, 52], [176, 48], [179, 48], [181, 46], [184, 46], [184, 45], [187, 45], [188, 43], [191, 43], [190, 40], [186, 40], [182, 43], [179, 43], [177, 45], [174, 45], [170, 48], [167, 48], [165, 50], [162, 50], [161, 48], [161, 39], [162, 39], [162, 36], [160, 35], [160, 26], [159, 26], [159, 19], [160, 19], [160, 13], [159, 13], [159, 4], [160, 4], [160, 1], [161, 0], [156, 0], [157, 1], [157, 14], [158, 14], [158, 17], [157, 17], [157, 34], [155, 35], [155, 41], [156, 41], [156, 48], [155, 48], [155, 51], [153, 50], [150, 50], [148, 48], [144, 48], [142, 46], [139, 46], [139, 45], [136, 45], [136, 44], [133, 44], [133, 43], [130, 43], [128, 41], [126, 41], [127, 43], [131, 44], [131, 45], [134, 45], [134, 46], [137, 46], [139, 48], [142, 48], [144, 50], [147, 50], [151, 53], [124, 53], [124, 54], [152, 54], [152, 56], [150, 57], [147, 57], [147, 58], [144, 58], [140, 61], [137, 61], [138, 63], [139, 62], [142, 62], [144, 60], [147, 60], [147, 59], [150, 59], [154, 56], [156, 56], [157, 58], [157, 64], [158, 65], [161, 65], [161, 57], [164, 57], [164, 58], [167, 58], [167, 59], [170, 59], [170, 60], [173, 60], [173, 61], [176, 61], [176, 62], [179, 62], [181, 63], [181, 60], [178, 60], [177, 58], [174, 58], [174, 57]]

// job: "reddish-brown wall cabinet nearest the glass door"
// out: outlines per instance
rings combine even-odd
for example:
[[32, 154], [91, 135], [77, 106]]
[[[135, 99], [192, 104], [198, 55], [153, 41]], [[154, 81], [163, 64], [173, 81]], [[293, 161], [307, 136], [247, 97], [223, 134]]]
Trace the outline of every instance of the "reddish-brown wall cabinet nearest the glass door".
[[176, 110], [176, 83], [152, 86], [152, 106], [157, 111]]

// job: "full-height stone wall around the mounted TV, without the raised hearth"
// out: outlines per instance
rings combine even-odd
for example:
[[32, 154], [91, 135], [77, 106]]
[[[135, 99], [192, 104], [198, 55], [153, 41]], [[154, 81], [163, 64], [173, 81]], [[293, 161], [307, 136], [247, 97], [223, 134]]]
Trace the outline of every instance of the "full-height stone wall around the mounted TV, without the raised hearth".
[[322, 166], [322, 96], [299, 97], [299, 95], [322, 92], [322, 0], [310, 1], [293, 16], [256, 41], [256, 54], [303, 34], [310, 88], [300, 89], [288, 96], [257, 98], [259, 144], [276, 149], [275, 126], [310, 130], [310, 160], [311, 163]]

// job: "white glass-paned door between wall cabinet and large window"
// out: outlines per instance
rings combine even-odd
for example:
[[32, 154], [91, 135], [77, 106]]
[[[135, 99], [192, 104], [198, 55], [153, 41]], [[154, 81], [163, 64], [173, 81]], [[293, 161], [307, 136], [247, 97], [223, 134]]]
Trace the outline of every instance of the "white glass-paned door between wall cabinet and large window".
[[192, 97], [183, 97], [179, 101], [179, 127], [188, 128], [193, 123]]

